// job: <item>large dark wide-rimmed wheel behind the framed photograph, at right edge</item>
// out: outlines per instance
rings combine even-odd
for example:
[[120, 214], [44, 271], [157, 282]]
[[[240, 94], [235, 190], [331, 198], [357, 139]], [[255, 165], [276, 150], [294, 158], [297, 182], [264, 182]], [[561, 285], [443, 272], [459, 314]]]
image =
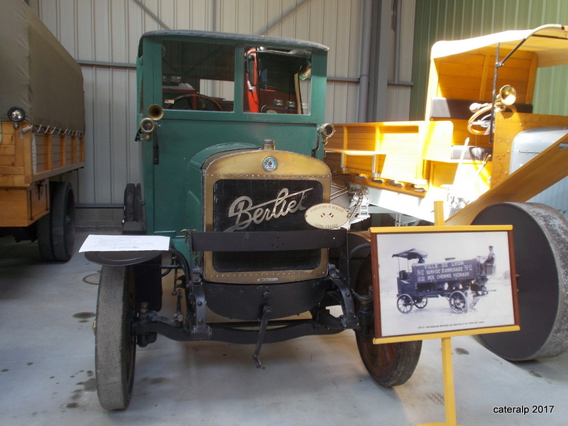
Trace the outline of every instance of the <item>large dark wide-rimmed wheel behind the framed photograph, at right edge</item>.
[[483, 334], [509, 361], [548, 358], [568, 348], [568, 222], [545, 204], [503, 202], [482, 210], [474, 225], [513, 225], [520, 331]]

